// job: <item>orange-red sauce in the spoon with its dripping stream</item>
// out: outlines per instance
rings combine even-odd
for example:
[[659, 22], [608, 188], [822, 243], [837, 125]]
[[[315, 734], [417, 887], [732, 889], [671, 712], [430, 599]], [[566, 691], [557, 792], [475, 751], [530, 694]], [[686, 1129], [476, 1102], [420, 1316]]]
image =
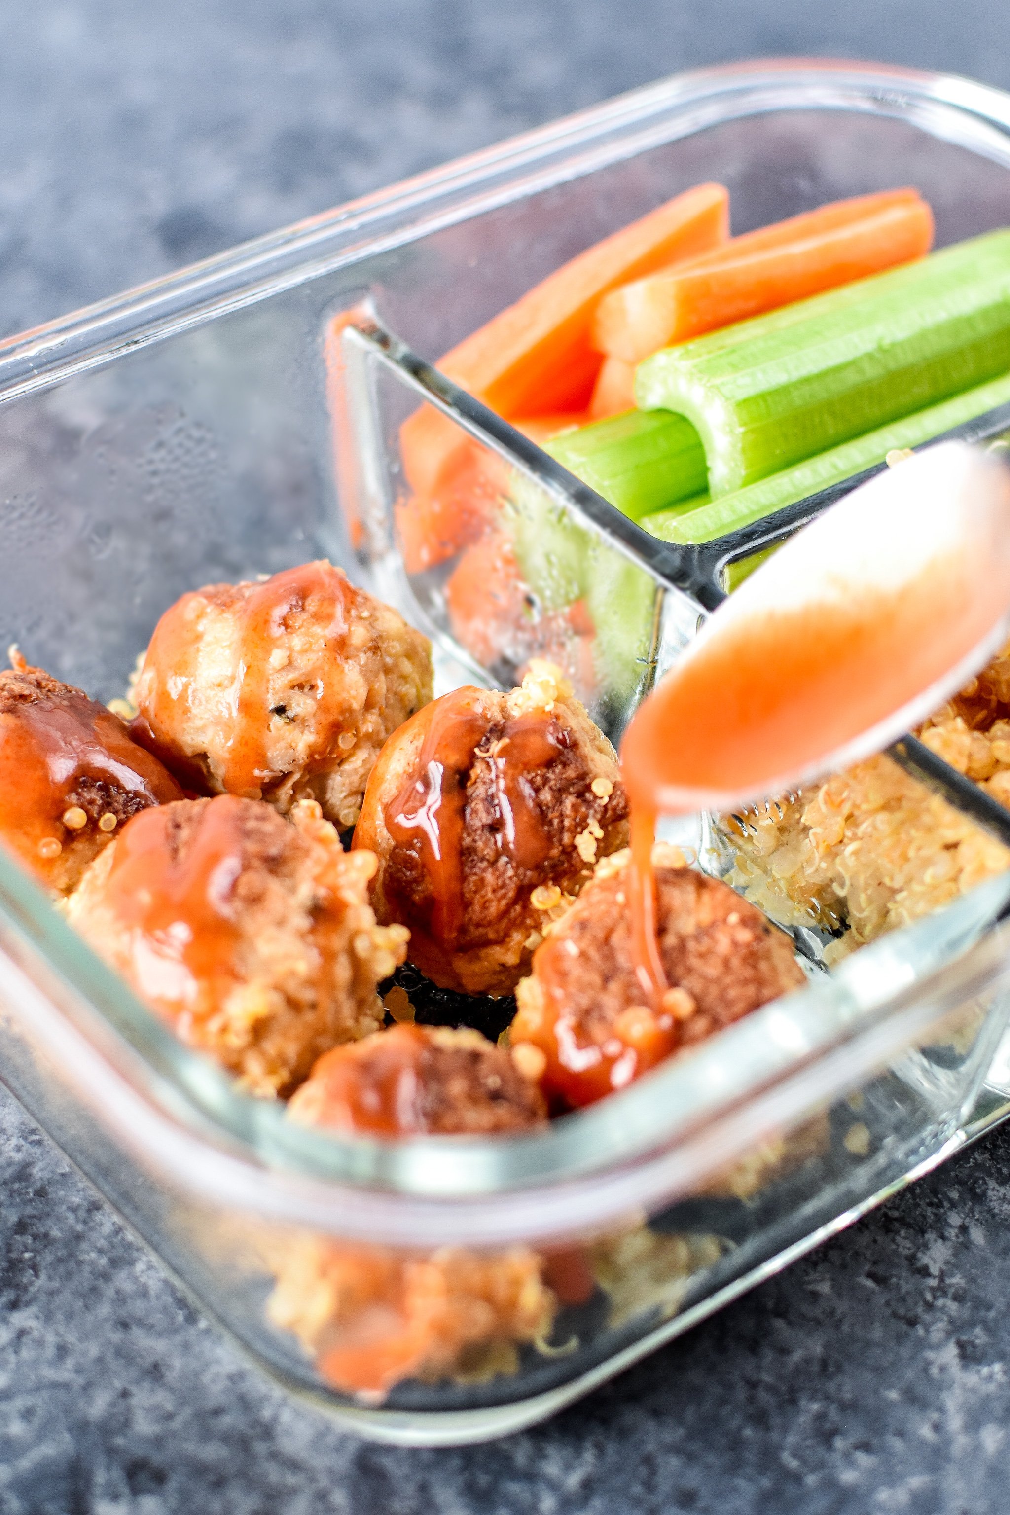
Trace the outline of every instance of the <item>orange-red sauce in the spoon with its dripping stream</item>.
[[727, 617], [656, 686], [621, 744], [631, 803], [636, 974], [657, 1007], [654, 820], [728, 807], [819, 771], [946, 677], [1004, 606], [957, 561], [889, 589]]

